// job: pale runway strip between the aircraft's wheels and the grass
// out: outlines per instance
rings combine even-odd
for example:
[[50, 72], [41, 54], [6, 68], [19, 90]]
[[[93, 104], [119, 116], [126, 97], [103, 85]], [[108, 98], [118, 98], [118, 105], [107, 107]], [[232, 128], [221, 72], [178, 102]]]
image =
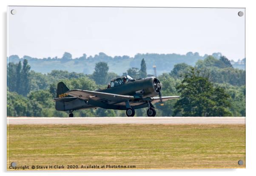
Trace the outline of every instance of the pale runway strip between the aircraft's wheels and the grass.
[[245, 117], [9, 117], [7, 124], [245, 124]]

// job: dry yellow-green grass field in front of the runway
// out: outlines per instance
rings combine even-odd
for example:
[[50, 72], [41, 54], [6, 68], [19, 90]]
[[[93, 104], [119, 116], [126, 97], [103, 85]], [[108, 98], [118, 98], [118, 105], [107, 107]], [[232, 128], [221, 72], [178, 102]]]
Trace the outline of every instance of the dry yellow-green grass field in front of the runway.
[[9, 125], [7, 157], [8, 167], [245, 168], [245, 125]]

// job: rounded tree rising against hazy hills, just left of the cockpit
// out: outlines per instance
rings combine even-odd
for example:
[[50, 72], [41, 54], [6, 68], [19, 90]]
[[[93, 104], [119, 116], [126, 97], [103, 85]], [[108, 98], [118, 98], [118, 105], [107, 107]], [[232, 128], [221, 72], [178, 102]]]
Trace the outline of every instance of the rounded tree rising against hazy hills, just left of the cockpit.
[[95, 71], [92, 74], [92, 78], [97, 84], [103, 85], [108, 82], [108, 63], [98, 62], [95, 65]]

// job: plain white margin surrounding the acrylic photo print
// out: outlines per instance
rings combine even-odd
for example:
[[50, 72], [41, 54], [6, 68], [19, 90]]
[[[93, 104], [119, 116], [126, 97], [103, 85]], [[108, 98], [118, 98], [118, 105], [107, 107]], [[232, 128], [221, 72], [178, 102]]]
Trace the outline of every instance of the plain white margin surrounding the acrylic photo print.
[[[256, 6], [252, 0], [179, 0], [179, 1], [164, 1], [164, 0], [1, 0], [1, 38], [0, 43], [1, 50], [1, 159], [0, 167], [1, 172], [6, 172], [6, 7], [7, 5], [53, 5], [53, 6], [161, 6], [161, 7], [236, 7], [246, 8], [246, 169], [204, 169], [204, 170], [107, 170], [107, 171], [88, 171], [88, 172], [71, 172], [65, 171], [64, 173], [49, 173], [49, 172], [20, 172], [15, 173], [17, 175], [205, 175], [216, 176], [216, 175], [227, 175], [232, 174], [233, 176], [241, 175], [253, 175], [256, 173], [256, 162], [255, 162], [255, 125], [256, 117], [254, 116], [253, 106], [255, 106], [255, 70], [256, 66], [256, 54], [255, 54], [255, 17], [256, 17]], [[12, 174], [14, 174], [12, 172]], [[7, 173], [3, 173], [7, 175]]]

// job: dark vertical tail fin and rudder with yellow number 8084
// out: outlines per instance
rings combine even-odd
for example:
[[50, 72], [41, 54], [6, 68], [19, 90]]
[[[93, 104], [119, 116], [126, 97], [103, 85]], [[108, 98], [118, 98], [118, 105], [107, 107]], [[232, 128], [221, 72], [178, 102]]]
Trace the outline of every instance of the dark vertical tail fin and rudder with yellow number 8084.
[[[69, 91], [69, 88], [63, 83], [59, 82], [57, 85], [57, 98], [68, 97], [69, 95], [66, 93]], [[55, 102], [55, 109], [56, 110], [65, 110], [65, 103], [64, 102]]]

